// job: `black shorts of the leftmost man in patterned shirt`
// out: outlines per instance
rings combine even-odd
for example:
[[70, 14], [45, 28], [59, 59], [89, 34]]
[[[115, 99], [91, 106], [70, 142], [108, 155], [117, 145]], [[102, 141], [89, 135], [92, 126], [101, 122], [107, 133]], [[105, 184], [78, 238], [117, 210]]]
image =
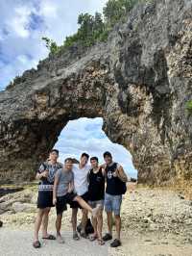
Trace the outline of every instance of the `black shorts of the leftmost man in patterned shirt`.
[[44, 209], [47, 207], [54, 207], [53, 205], [53, 191], [50, 192], [38, 192], [37, 208]]

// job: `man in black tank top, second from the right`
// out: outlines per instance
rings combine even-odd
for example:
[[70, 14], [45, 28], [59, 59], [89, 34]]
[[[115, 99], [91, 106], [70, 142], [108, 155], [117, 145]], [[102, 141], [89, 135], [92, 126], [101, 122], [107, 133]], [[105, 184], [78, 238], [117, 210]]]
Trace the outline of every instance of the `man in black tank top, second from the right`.
[[103, 245], [102, 239], [103, 227], [103, 208], [105, 194], [105, 176], [102, 167], [98, 166], [98, 158], [90, 158], [91, 169], [88, 173], [88, 203], [92, 208], [100, 206], [100, 212], [97, 218], [92, 218], [94, 233], [89, 237], [90, 241], [98, 239], [98, 243]]

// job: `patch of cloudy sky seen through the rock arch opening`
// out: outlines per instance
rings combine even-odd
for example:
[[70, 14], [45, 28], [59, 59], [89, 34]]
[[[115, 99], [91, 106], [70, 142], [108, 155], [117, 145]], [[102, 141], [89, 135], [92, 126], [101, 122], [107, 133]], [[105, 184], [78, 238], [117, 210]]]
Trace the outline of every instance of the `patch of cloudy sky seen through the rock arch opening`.
[[110, 151], [114, 161], [124, 166], [130, 175], [136, 176], [132, 155], [125, 147], [108, 139], [102, 130], [102, 124], [103, 119], [100, 117], [69, 121], [55, 145], [60, 150], [60, 161], [63, 162], [66, 157], [79, 159], [82, 152], [87, 152], [90, 156], [97, 156], [102, 163], [103, 153]]

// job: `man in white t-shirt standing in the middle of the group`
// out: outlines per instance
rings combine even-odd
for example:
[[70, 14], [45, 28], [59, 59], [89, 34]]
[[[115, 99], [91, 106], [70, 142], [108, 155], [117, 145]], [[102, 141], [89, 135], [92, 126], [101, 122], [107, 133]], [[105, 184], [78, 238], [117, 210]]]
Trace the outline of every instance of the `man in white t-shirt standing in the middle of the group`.
[[[74, 187], [75, 192], [80, 195], [84, 201], [88, 201], [88, 181], [87, 181], [87, 175], [90, 170], [91, 166], [87, 165], [89, 155], [86, 153], [83, 153], [80, 159], [80, 164], [74, 164], [73, 165], [73, 173], [74, 173]], [[82, 209], [82, 207], [79, 205], [78, 202], [74, 201], [71, 203], [72, 208], [72, 226], [73, 226], [73, 239], [79, 240], [79, 236], [77, 233], [77, 214], [78, 214], [78, 208]], [[81, 230], [81, 236], [86, 238], [85, 234], [85, 225], [87, 222], [87, 211], [85, 209], [82, 209], [83, 212], [83, 218], [82, 218], [82, 230]]]

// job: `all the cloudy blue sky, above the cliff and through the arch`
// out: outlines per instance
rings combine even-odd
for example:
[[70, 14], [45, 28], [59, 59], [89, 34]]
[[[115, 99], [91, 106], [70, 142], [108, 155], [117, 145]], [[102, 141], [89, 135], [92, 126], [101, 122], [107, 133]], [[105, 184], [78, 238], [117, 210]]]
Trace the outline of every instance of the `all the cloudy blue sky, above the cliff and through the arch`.
[[[0, 0], [0, 90], [16, 75], [31, 67], [48, 52], [41, 40], [52, 38], [61, 44], [77, 31], [80, 13], [102, 12], [107, 0]], [[102, 131], [101, 118], [70, 121], [59, 141], [61, 156], [79, 157], [82, 151], [102, 156], [106, 149], [129, 172], [135, 170], [132, 157], [121, 145], [111, 143]]]

